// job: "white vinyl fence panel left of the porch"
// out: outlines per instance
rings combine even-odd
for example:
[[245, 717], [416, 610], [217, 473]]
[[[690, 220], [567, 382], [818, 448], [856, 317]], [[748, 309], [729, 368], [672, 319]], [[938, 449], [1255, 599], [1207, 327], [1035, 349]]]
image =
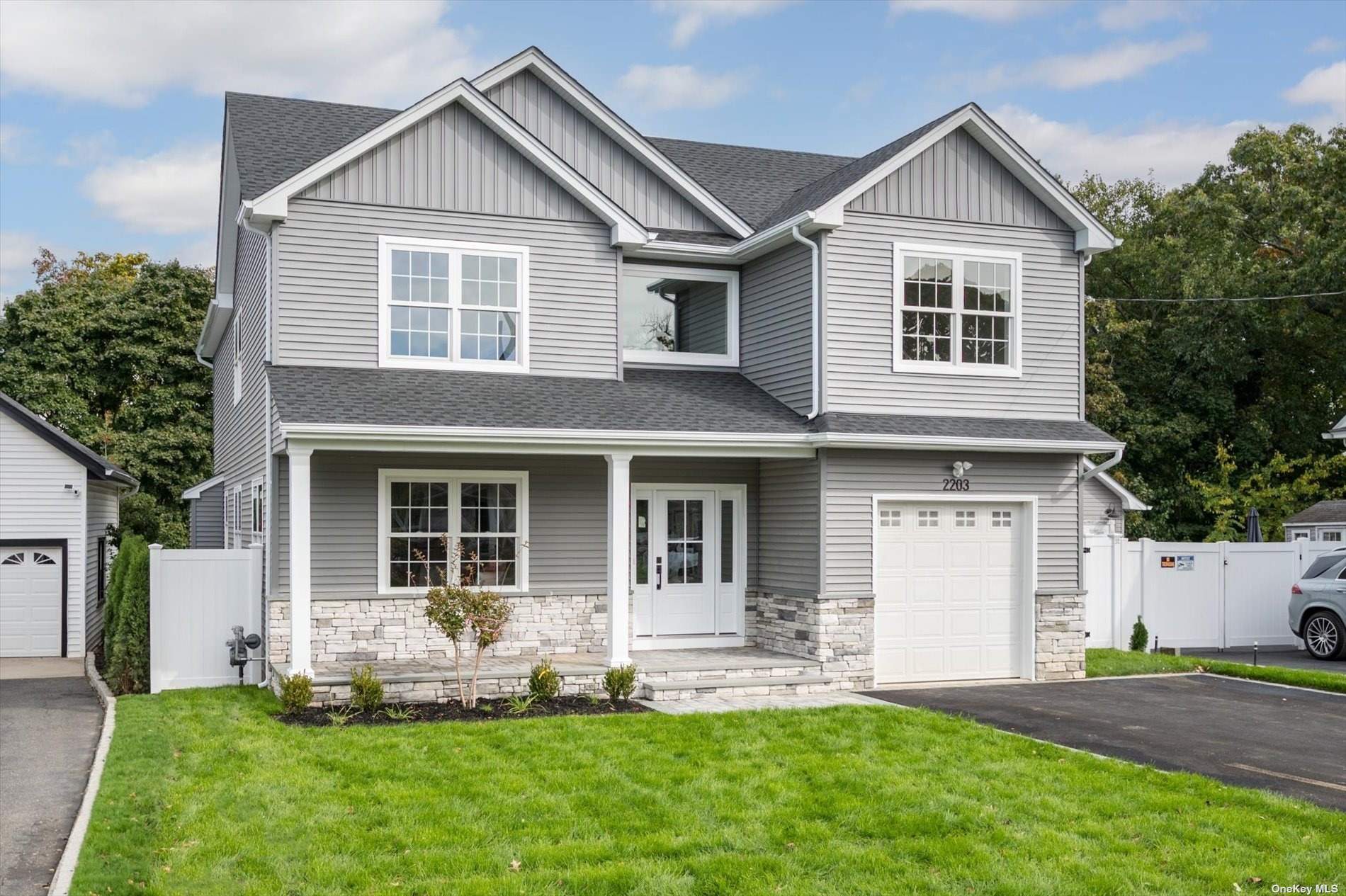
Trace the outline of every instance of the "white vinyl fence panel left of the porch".
[[[241, 550], [149, 546], [149, 693], [238, 682], [233, 626], [261, 634], [261, 545]], [[248, 663], [244, 681], [261, 681]]]

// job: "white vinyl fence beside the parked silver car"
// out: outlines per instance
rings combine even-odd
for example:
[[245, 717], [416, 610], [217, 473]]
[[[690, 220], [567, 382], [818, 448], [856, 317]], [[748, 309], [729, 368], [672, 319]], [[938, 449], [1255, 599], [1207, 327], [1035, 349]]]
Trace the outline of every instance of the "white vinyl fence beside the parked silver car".
[[1149, 644], [1296, 644], [1289, 587], [1330, 541], [1236, 544], [1085, 538], [1085, 644], [1125, 647], [1140, 616]]

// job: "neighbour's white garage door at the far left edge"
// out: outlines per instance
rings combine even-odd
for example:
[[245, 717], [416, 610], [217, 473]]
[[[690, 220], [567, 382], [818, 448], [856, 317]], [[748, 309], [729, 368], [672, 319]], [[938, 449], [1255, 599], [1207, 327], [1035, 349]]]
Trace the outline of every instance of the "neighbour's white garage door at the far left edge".
[[0, 657], [59, 657], [63, 603], [59, 548], [0, 548]]

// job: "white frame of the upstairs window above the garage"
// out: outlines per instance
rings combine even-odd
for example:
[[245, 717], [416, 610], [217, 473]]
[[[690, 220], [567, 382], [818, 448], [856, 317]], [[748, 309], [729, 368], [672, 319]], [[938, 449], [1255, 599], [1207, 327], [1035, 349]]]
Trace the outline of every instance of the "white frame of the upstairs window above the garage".
[[[949, 361], [906, 361], [902, 357], [902, 281], [907, 256], [940, 256], [953, 261], [953, 308], [911, 308], [911, 311], [937, 311], [952, 318], [952, 348]], [[989, 261], [1008, 262], [1010, 272], [1010, 363], [977, 365], [962, 362], [962, 316], [983, 313], [962, 307], [962, 262]], [[1023, 375], [1023, 253], [999, 252], [992, 249], [972, 249], [968, 246], [931, 246], [919, 244], [892, 244], [892, 371], [919, 374], [954, 374], [958, 377], [993, 377], [1018, 379]]]

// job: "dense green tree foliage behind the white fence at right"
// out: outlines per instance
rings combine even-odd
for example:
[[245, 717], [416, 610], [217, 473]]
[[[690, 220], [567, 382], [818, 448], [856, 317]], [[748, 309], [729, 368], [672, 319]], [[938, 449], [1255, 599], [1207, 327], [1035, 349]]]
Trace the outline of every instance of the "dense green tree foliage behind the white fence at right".
[[1088, 269], [1085, 373], [1089, 420], [1128, 443], [1114, 474], [1154, 506], [1128, 531], [1233, 537], [1252, 503], [1279, 529], [1346, 494], [1320, 439], [1346, 412], [1346, 296], [1116, 301], [1346, 289], [1346, 129], [1259, 128], [1195, 183], [1075, 195], [1124, 238]]

